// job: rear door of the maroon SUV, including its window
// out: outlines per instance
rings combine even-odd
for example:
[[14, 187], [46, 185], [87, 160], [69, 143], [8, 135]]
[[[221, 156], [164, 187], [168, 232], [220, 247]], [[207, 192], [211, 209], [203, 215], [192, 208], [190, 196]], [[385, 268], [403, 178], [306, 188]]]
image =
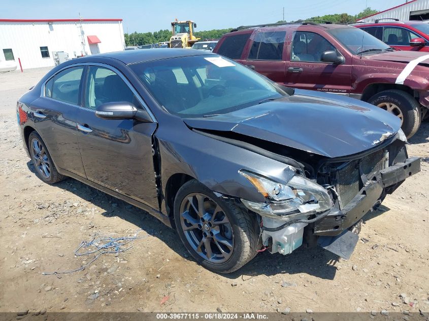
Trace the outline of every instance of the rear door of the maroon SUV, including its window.
[[251, 43], [247, 49], [247, 59], [239, 62], [283, 85], [285, 38], [285, 30], [256, 31], [250, 37]]

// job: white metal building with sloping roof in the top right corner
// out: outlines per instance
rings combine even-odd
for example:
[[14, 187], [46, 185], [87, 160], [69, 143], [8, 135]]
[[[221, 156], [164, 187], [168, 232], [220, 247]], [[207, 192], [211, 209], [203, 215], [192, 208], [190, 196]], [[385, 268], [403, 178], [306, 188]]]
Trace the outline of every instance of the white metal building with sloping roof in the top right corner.
[[374, 15], [361, 18], [358, 22], [373, 22], [376, 19], [428, 20], [429, 0], [411, 0], [402, 5], [380, 11]]

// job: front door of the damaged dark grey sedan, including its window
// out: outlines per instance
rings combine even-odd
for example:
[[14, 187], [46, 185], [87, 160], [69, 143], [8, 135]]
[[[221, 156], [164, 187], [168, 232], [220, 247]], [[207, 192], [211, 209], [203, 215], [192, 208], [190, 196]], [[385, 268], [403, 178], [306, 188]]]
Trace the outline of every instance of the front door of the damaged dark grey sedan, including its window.
[[143, 100], [118, 70], [105, 65], [88, 66], [83, 88], [77, 128], [87, 179], [157, 208], [152, 159], [152, 134], [157, 124], [95, 115], [103, 103], [127, 101], [144, 109]]

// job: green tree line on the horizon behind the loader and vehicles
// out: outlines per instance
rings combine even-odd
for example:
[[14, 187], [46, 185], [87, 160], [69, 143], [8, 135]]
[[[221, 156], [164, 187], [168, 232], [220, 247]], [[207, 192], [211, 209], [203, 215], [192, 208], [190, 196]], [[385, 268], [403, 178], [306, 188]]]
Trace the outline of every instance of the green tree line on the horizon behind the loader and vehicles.
[[[331, 21], [333, 23], [350, 23], [355, 22], [357, 19], [372, 15], [377, 13], [377, 10], [373, 10], [370, 7], [366, 8], [364, 11], [358, 13], [357, 15], [349, 15], [347, 13], [337, 13], [324, 16], [311, 17], [309, 20], [325, 20]], [[304, 20], [290, 21], [290, 22], [302, 22]], [[279, 23], [286, 21], [277, 21]], [[195, 37], [201, 38], [201, 40], [206, 39], [219, 39], [223, 34], [229, 32], [233, 28], [226, 29], [212, 29], [204, 31], [195, 31]], [[164, 41], [169, 41], [171, 37], [171, 30], [163, 29], [154, 32], [133, 32], [133, 33], [124, 33], [125, 44], [126, 46], [141, 46], [148, 44], [156, 44]]]

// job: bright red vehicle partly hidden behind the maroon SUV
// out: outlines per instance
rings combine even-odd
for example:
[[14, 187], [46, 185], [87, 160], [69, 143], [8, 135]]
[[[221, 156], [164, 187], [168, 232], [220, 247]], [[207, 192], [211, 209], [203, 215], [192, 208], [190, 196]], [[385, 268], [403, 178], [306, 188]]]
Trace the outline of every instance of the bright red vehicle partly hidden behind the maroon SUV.
[[421, 21], [364, 22], [352, 24], [356, 28], [367, 31], [390, 47], [399, 50], [429, 52], [429, 24]]

